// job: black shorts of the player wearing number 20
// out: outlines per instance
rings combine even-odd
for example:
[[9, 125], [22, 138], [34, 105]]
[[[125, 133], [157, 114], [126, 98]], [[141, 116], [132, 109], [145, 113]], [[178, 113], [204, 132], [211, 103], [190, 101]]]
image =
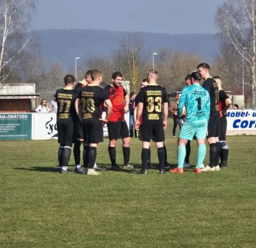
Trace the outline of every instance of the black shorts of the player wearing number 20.
[[84, 144], [103, 142], [103, 123], [82, 123]]

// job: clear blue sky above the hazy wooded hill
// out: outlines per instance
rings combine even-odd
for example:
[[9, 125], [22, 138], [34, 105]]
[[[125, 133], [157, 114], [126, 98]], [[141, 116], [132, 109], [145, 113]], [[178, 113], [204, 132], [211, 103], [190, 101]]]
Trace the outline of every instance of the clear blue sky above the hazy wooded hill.
[[32, 28], [215, 33], [222, 0], [37, 0]]

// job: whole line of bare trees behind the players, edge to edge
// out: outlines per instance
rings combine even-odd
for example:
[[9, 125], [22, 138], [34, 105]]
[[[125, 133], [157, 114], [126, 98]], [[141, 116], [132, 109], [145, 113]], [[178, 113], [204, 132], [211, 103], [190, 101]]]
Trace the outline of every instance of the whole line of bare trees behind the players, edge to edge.
[[[35, 82], [37, 92], [52, 95], [62, 87], [66, 72], [61, 61], [45, 63], [36, 33], [27, 35], [31, 14], [35, 11], [34, 0], [0, 2], [0, 84]], [[217, 7], [215, 22], [219, 51], [210, 63], [212, 74], [221, 76], [225, 90], [232, 94], [244, 93], [247, 102], [255, 106], [256, 0], [224, 0]], [[82, 79], [88, 69], [99, 69], [103, 71], [104, 82], [110, 82], [112, 72], [121, 71], [124, 79], [130, 81], [131, 91], [137, 93], [140, 82], [152, 69], [152, 53], [145, 50], [145, 42], [136, 33], [121, 37], [119, 47], [109, 56], [91, 55], [82, 61], [78, 79]], [[203, 62], [195, 53], [168, 48], [156, 52], [154, 65], [159, 73], [158, 83], [168, 92], [180, 91], [186, 75]], [[75, 74], [75, 69], [70, 68], [68, 73]]]

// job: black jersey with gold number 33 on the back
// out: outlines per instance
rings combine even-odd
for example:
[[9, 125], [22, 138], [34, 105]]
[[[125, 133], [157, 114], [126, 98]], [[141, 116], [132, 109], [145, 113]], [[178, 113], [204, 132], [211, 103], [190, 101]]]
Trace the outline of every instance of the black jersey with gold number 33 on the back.
[[142, 102], [143, 116], [142, 123], [152, 121], [163, 121], [162, 105], [168, 102], [168, 96], [165, 88], [161, 86], [145, 86], [140, 89], [138, 103]]

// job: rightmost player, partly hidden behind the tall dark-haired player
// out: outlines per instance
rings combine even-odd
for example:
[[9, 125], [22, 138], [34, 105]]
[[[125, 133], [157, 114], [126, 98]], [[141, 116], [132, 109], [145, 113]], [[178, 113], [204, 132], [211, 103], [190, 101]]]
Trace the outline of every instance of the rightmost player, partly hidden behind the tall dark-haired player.
[[[231, 99], [222, 89], [222, 81], [219, 76], [213, 78], [219, 87], [219, 113], [220, 113], [220, 135], [219, 143], [221, 144], [221, 164], [220, 168], [227, 168], [227, 158], [229, 156], [229, 147], [227, 146], [226, 133], [227, 133], [227, 109], [231, 107]], [[219, 164], [219, 156], [217, 157], [217, 163]]]

